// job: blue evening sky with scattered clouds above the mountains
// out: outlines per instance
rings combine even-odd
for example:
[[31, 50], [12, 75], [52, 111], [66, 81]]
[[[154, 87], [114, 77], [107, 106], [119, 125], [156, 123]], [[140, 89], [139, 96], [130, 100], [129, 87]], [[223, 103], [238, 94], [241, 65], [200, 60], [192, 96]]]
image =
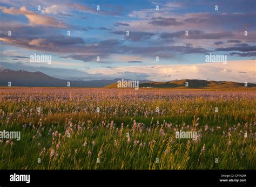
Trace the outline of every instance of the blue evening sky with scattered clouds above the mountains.
[[[83, 81], [256, 83], [255, 20], [254, 0], [1, 0], [0, 68]], [[51, 63], [31, 62], [34, 54]], [[208, 62], [210, 54], [227, 61]]]

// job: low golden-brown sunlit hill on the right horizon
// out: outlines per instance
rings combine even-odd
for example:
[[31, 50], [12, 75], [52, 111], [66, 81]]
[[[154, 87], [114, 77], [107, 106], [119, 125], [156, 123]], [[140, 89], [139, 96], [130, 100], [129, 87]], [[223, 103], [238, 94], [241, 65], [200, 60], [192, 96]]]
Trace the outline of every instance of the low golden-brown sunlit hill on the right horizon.
[[[186, 82], [188, 87], [186, 87]], [[175, 89], [256, 89], [256, 84], [237, 83], [231, 81], [205, 81], [205, 80], [174, 80], [169, 82], [140, 83], [139, 88], [175, 88]], [[117, 88], [117, 82], [104, 88]]]

